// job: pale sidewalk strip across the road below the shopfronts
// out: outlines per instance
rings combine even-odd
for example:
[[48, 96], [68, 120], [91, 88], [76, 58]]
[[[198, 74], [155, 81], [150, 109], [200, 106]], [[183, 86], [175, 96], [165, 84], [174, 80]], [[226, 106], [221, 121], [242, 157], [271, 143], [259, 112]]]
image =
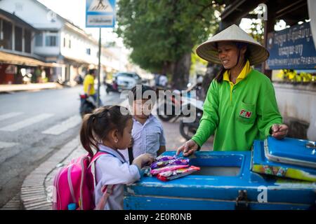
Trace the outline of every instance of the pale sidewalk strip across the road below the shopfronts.
[[30, 83], [18, 85], [0, 85], [0, 92], [30, 91], [44, 89], [60, 89], [62, 85], [59, 83]]

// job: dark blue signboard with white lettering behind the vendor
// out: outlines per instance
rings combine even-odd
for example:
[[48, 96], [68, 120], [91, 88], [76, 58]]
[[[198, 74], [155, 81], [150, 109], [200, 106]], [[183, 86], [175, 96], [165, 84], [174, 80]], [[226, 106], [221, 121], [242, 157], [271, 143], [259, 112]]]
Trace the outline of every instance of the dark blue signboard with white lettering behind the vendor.
[[315, 69], [316, 50], [310, 22], [268, 34], [268, 69]]

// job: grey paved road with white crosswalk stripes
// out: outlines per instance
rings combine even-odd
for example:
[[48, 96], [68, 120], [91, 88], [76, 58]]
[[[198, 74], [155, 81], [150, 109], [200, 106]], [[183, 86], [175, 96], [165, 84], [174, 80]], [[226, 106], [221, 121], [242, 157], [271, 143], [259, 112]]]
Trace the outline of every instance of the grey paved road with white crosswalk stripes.
[[[20, 190], [27, 174], [79, 133], [79, 92], [62, 90], [0, 94], [0, 207]], [[119, 94], [101, 89], [104, 104]]]

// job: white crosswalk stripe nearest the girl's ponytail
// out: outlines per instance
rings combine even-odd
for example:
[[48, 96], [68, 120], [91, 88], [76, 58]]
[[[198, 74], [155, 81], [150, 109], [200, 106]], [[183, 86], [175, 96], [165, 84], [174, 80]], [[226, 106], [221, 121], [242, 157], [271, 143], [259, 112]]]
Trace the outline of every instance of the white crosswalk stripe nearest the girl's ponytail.
[[70, 130], [72, 127], [76, 127], [81, 123], [81, 116], [76, 115], [68, 118], [67, 120], [62, 121], [62, 123], [55, 125], [53, 127], [48, 128], [48, 130], [45, 130], [44, 132], [41, 132], [42, 134], [62, 134], [63, 132], [66, 132], [67, 130]]

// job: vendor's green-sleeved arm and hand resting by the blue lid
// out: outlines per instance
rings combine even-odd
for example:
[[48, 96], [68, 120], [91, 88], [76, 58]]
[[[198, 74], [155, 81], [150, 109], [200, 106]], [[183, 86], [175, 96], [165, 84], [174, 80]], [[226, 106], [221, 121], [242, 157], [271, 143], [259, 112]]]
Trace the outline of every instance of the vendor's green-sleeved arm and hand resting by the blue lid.
[[[275, 89], [270, 80], [266, 85], [261, 85], [257, 102], [258, 129], [265, 138], [269, 134], [282, 139], [287, 134], [287, 125], [282, 125], [282, 116], [277, 108]], [[272, 128], [273, 126], [273, 128]]]

